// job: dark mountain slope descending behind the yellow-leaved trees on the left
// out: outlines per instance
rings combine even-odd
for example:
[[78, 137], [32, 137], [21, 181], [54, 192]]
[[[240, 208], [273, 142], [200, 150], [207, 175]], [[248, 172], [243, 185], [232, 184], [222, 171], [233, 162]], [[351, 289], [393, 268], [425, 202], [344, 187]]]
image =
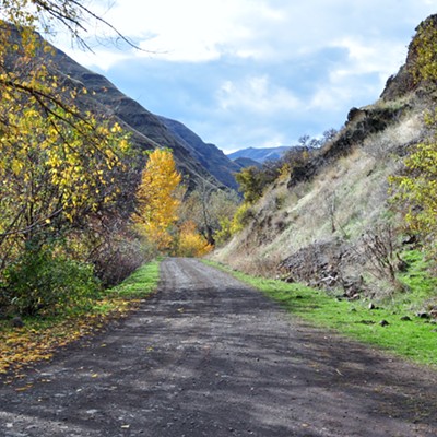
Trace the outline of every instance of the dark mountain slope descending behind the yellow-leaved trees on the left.
[[118, 118], [132, 133], [132, 141], [144, 150], [158, 145], [170, 147], [178, 169], [188, 177], [190, 186], [196, 186], [199, 180], [209, 180], [220, 188], [236, 188], [233, 173], [239, 167], [215, 145], [203, 143], [184, 125], [150, 113], [106, 78], [85, 69], [61, 50], [55, 49], [54, 52], [54, 56], [42, 52], [40, 57], [58, 76], [88, 91], [78, 98], [80, 106]]

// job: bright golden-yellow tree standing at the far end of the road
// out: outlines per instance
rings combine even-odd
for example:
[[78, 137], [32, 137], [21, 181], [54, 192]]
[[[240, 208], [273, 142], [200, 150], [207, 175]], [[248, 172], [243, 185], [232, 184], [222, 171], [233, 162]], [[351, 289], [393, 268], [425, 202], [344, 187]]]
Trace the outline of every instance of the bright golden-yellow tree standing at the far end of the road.
[[178, 218], [176, 191], [180, 181], [172, 151], [156, 149], [149, 154], [137, 192], [134, 222], [160, 251], [167, 250], [173, 241], [169, 229]]

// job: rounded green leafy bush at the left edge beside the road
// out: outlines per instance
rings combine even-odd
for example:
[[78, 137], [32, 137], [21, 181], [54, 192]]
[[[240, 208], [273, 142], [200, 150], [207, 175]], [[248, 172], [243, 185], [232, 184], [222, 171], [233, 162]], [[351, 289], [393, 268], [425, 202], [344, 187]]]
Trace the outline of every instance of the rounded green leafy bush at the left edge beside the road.
[[23, 316], [55, 315], [86, 307], [99, 293], [93, 267], [50, 248], [27, 247], [4, 274], [2, 302]]

